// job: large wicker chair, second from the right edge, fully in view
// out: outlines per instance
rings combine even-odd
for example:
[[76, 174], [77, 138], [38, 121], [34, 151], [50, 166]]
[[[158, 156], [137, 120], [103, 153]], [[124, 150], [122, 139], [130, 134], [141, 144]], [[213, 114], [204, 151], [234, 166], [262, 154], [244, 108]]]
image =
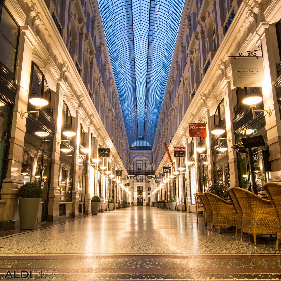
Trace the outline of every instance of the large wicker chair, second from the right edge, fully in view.
[[240, 187], [233, 187], [232, 190], [243, 213], [241, 241], [243, 232], [253, 234], [255, 246], [257, 234], [277, 234], [279, 220], [269, 200]]

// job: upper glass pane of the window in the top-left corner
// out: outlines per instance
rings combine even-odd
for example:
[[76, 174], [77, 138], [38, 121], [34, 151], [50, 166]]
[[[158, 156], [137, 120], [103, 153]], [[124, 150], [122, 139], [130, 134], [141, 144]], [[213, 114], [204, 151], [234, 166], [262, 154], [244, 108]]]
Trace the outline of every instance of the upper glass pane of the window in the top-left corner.
[[[3, 7], [0, 23], [0, 31], [16, 49], [18, 42], [18, 26], [11, 18], [5, 7]], [[3, 48], [1, 48], [3, 50]]]

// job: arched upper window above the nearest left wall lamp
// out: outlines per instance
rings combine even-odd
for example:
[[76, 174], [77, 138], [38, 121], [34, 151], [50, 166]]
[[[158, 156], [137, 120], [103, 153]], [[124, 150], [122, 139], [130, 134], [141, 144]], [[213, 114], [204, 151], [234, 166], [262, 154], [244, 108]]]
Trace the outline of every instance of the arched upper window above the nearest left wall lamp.
[[51, 103], [51, 91], [49, 89], [47, 80], [39, 67], [32, 61], [31, 77], [29, 87], [29, 97], [42, 97]]

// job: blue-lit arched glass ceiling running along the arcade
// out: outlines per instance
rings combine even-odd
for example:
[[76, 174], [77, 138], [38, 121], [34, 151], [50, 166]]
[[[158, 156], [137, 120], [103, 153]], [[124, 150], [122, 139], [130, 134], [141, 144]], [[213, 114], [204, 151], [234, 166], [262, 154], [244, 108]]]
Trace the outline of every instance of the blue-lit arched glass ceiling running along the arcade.
[[129, 145], [152, 146], [184, 0], [98, 0]]

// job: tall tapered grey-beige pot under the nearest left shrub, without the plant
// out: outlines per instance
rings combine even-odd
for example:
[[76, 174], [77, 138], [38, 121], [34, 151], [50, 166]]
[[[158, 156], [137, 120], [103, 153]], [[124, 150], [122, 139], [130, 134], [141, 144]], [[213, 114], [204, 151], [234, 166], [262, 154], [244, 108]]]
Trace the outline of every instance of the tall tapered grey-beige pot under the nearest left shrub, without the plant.
[[20, 198], [20, 229], [35, 229], [41, 198]]

